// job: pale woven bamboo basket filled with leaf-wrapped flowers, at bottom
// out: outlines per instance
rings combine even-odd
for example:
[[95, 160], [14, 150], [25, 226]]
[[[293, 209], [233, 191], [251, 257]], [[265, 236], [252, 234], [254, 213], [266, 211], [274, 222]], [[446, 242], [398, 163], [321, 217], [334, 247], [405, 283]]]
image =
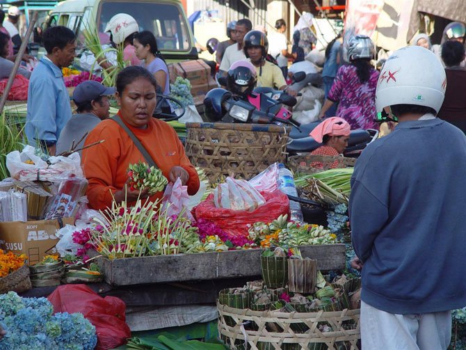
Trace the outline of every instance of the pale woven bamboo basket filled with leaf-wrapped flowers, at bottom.
[[[218, 334], [230, 349], [359, 349], [359, 309], [330, 312], [252, 311], [217, 303], [217, 310]], [[229, 326], [225, 317], [234, 319], [236, 324]], [[245, 326], [251, 324], [253, 326]], [[293, 331], [298, 325], [304, 326], [307, 331]], [[253, 330], [249, 330], [251, 328]]]

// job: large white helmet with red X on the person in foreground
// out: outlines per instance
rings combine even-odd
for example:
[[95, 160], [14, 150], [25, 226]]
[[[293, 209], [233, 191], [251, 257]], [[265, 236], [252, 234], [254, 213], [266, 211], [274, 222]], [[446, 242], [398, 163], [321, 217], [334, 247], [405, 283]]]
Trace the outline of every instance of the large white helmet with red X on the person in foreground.
[[394, 51], [382, 67], [377, 82], [376, 109], [395, 104], [417, 104], [434, 109], [442, 106], [447, 77], [432, 51], [408, 46]]

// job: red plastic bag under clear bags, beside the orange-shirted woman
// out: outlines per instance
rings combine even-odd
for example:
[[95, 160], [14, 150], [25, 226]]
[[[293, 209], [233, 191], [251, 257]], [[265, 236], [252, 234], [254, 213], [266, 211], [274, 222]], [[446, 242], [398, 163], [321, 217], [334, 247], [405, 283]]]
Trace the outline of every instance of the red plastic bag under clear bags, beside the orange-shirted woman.
[[204, 202], [193, 208], [193, 216], [196, 219], [214, 221], [232, 237], [248, 237], [248, 225], [257, 222], [271, 223], [278, 216], [289, 214], [289, 200], [282, 191], [260, 193], [266, 204], [261, 205], [254, 212], [217, 208], [214, 205], [214, 194], [210, 194]]

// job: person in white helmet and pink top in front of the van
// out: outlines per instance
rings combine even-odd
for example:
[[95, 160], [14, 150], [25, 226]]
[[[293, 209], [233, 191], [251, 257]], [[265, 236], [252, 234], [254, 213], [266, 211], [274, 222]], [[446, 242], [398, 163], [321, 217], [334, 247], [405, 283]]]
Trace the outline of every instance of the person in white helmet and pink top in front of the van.
[[[111, 17], [104, 31], [110, 33], [110, 40], [115, 45], [123, 45], [124, 61], [128, 61], [130, 65], [140, 65], [141, 61], [136, 56], [136, 48], [133, 46], [134, 34], [139, 31], [138, 23], [134, 17], [127, 13], [118, 13]], [[111, 67], [110, 63], [102, 59], [97, 61], [104, 68]]]

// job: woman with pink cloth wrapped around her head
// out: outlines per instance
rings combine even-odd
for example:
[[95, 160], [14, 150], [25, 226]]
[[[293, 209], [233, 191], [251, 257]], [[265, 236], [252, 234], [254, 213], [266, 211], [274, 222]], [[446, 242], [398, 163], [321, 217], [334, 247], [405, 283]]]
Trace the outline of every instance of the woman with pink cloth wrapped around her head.
[[[315, 141], [323, 143], [323, 145], [312, 151], [311, 155], [339, 156], [348, 146], [350, 132], [351, 127], [343, 118], [332, 117], [323, 120], [310, 133]], [[322, 166], [319, 162], [314, 163], [312, 166], [316, 168]], [[336, 168], [337, 165], [338, 162], [336, 161], [330, 168]]]

